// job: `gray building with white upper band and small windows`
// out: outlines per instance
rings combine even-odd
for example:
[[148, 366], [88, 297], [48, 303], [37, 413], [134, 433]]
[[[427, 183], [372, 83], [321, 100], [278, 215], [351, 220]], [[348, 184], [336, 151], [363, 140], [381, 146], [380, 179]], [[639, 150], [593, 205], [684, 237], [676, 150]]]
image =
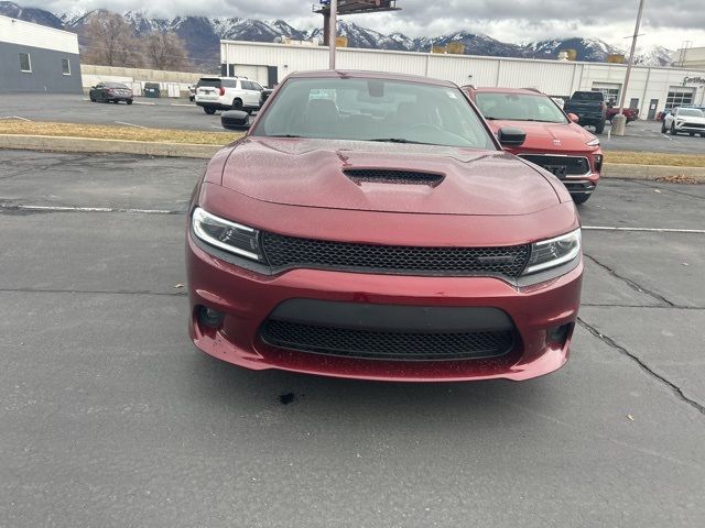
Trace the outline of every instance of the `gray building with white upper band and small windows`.
[[0, 94], [82, 94], [75, 33], [0, 16]]

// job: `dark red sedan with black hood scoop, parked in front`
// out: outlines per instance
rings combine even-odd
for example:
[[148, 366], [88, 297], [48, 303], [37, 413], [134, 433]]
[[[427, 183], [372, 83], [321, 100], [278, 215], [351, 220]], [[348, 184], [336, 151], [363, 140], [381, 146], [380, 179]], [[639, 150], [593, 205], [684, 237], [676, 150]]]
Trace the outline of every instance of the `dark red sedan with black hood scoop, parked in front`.
[[253, 370], [436, 382], [561, 367], [581, 230], [546, 170], [502, 152], [456, 85], [289, 76], [210, 161], [188, 210], [189, 331]]

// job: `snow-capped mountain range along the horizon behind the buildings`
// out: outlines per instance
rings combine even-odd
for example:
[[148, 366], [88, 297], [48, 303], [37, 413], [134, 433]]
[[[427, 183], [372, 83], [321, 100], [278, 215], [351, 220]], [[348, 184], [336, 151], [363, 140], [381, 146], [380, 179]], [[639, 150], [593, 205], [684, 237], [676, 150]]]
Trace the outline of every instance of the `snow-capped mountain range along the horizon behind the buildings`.
[[[0, 14], [76, 32], [80, 44], [85, 44], [86, 18], [94, 12], [96, 11], [70, 11], [52, 14], [42, 9], [24, 9], [14, 2], [0, 1]], [[150, 18], [137, 11], [129, 11], [122, 16], [134, 28], [138, 35], [151, 31], [174, 31], [186, 44], [188, 55], [194, 63], [214, 69], [218, 67], [220, 62], [220, 38], [252, 42], [273, 42], [276, 37], [323, 41], [323, 30], [299, 30], [283, 20], [206, 16], [176, 16], [172, 20], [165, 20]], [[576, 36], [521, 45], [500, 42], [488, 35], [467, 31], [410, 38], [403, 33], [384, 35], [349, 22], [347, 19], [338, 22], [338, 34], [347, 36], [349, 47], [368, 50], [430, 52], [432, 46], [445, 46], [457, 42], [464, 44], [466, 55], [556, 59], [561, 51], [575, 50], [578, 61], [605, 62], [611, 54], [625, 54], [625, 50], [598, 38]], [[660, 46], [643, 50], [637, 54], [637, 64], [669, 66], [672, 64], [672, 52]]]

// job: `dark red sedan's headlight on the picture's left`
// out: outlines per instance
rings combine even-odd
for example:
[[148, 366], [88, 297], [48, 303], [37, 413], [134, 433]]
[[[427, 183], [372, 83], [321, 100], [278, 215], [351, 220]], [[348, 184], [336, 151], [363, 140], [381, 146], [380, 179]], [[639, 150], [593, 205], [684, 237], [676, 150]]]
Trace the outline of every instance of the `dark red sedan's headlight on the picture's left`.
[[194, 233], [205, 243], [253, 261], [263, 261], [259, 231], [225, 220], [196, 208], [191, 222]]

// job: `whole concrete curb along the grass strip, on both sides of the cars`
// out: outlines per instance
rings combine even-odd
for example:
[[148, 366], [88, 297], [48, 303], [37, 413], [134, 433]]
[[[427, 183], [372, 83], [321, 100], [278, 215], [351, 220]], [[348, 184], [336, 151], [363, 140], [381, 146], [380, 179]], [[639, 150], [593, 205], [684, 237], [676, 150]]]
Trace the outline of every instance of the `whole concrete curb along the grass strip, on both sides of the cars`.
[[[50, 152], [82, 152], [104, 154], [138, 154], [143, 156], [195, 157], [209, 160], [223, 146], [191, 143], [152, 143], [149, 141], [95, 140], [48, 135], [0, 134], [0, 148]], [[705, 182], [705, 167], [674, 167], [668, 165], [622, 165], [606, 163], [603, 177], [625, 179], [657, 179], [664, 176], [690, 176]]]

